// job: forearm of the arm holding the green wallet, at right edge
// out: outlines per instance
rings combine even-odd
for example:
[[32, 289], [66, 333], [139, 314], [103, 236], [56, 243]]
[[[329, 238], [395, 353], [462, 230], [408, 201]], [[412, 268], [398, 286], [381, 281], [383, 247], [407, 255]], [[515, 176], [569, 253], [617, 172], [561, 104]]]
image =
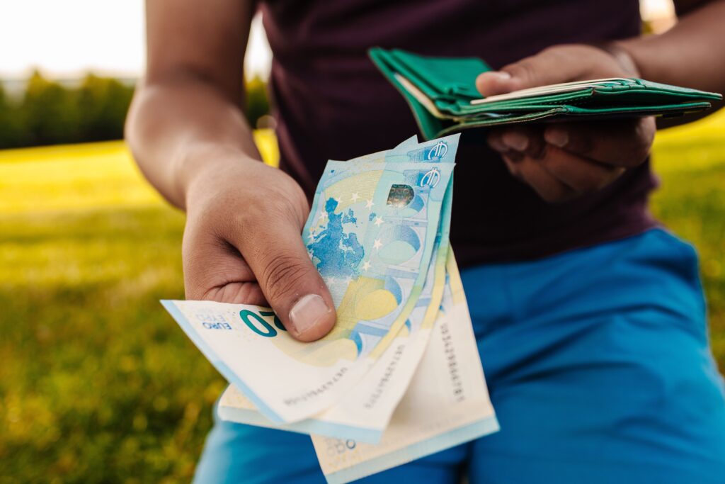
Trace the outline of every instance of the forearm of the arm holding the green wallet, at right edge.
[[705, 91], [725, 91], [725, 0], [711, 1], [684, 15], [659, 35], [618, 43], [642, 78]]

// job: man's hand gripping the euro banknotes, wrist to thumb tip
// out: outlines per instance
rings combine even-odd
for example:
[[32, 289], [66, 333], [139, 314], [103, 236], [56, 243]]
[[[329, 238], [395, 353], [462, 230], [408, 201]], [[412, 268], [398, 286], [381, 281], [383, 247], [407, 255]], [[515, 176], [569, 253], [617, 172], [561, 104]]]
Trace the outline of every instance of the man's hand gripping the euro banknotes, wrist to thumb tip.
[[310, 211], [302, 189], [234, 150], [206, 156], [186, 192], [186, 297], [269, 304], [298, 340], [323, 337], [336, 316], [300, 237]]

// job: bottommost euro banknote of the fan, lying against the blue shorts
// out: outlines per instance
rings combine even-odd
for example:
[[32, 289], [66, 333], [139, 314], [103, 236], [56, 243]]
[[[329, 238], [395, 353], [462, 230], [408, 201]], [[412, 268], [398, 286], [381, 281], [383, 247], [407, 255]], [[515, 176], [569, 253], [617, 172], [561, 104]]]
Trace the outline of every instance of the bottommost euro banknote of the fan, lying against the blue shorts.
[[452, 258], [441, 316], [378, 445], [312, 436], [329, 484], [347, 483], [499, 430]]

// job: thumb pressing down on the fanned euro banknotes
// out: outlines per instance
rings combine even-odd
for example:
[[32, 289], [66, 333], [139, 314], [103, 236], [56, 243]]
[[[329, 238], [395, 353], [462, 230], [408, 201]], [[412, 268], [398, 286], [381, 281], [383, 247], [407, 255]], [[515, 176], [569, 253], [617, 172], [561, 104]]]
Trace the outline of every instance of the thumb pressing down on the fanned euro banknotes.
[[336, 314], [330, 292], [312, 265], [299, 232], [299, 224], [289, 214], [265, 212], [242, 217], [230, 239], [290, 334], [313, 341], [334, 327]]

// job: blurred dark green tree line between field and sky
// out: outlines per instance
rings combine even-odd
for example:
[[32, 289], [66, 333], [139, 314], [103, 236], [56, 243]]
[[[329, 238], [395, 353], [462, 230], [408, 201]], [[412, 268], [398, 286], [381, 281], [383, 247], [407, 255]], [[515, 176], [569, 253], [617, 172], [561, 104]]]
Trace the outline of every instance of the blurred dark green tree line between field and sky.
[[[36, 72], [19, 97], [0, 84], [0, 149], [122, 139], [132, 97], [133, 86], [93, 74], [69, 87]], [[268, 112], [266, 85], [255, 78], [247, 83], [250, 125]]]

